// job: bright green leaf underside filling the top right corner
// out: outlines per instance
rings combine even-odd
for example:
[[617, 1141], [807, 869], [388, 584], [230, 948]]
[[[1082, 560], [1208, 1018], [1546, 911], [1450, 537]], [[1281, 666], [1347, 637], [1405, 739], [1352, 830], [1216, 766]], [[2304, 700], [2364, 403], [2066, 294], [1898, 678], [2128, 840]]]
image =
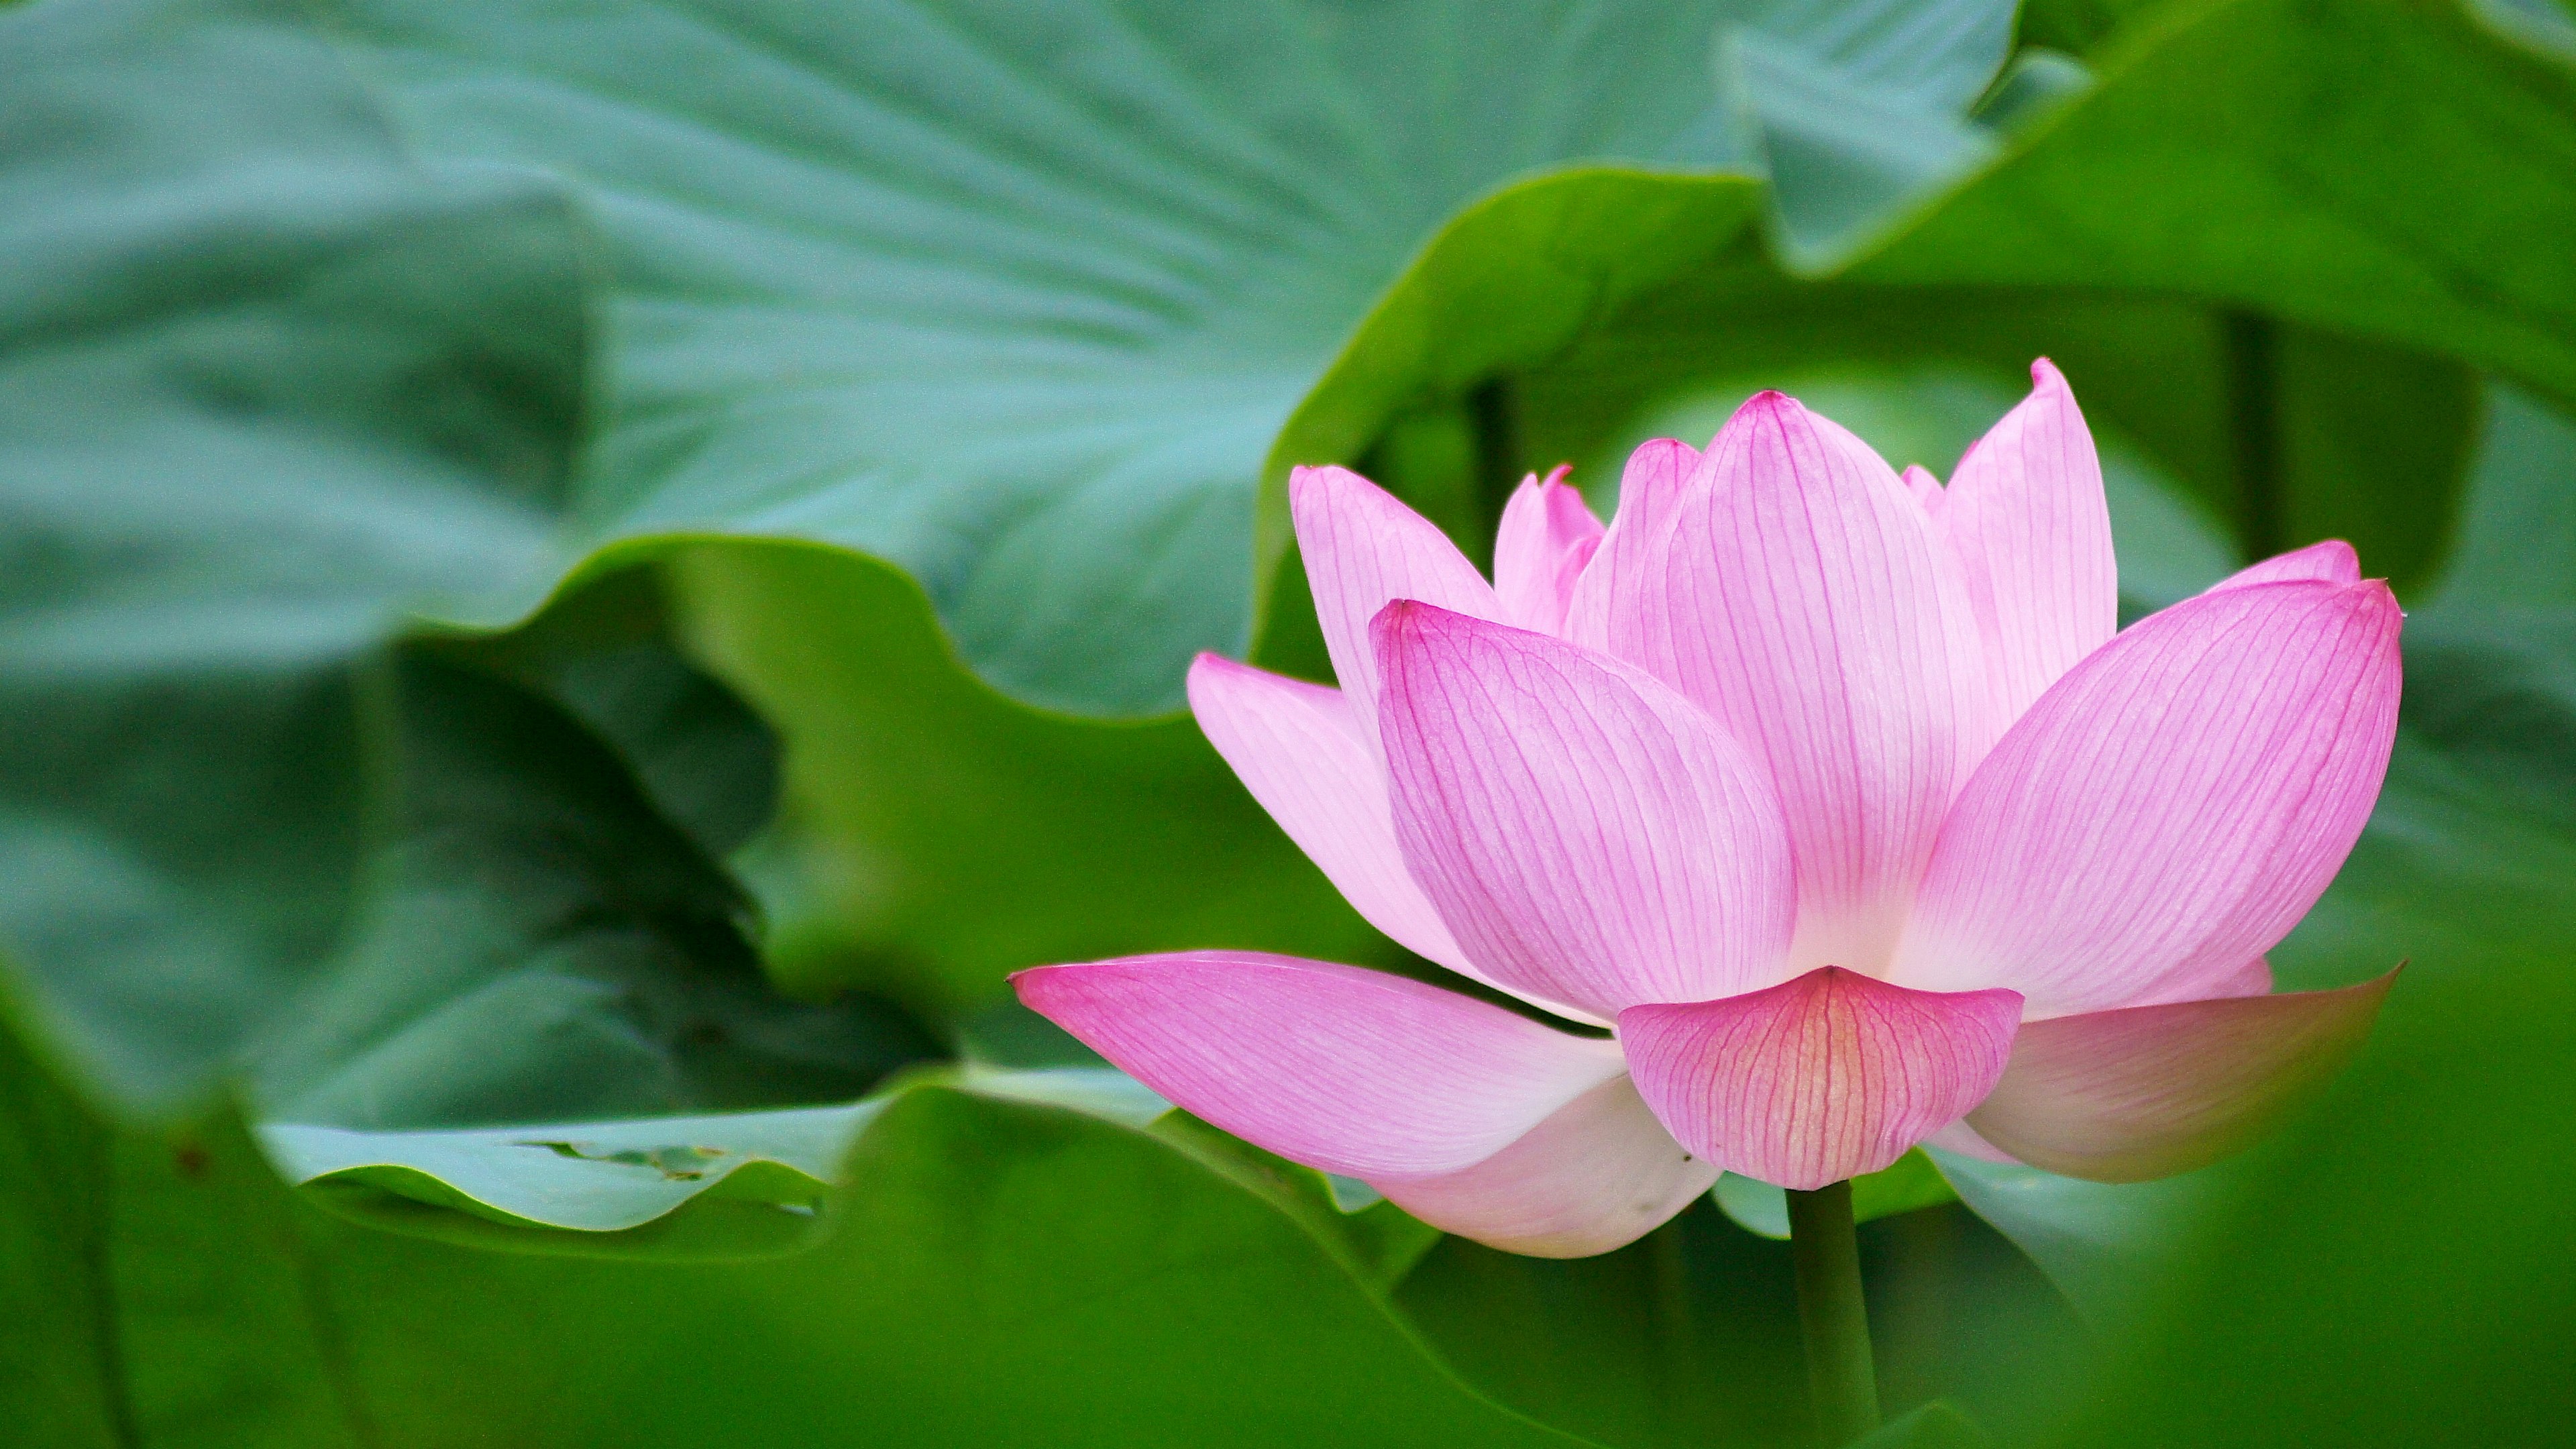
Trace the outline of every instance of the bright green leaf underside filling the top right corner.
[[[2455, 5], [2159, 5], [2099, 85], [1852, 266], [2169, 289], [2576, 397], [2576, 70]], [[2537, 227], [2537, 229], [2535, 229]]]

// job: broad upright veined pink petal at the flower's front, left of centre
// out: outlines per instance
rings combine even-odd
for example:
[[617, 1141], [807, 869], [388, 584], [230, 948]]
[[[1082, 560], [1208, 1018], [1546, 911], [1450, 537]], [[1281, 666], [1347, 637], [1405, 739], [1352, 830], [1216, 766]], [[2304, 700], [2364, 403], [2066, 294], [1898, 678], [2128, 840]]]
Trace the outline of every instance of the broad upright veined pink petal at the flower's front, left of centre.
[[1690, 701], [1430, 603], [1388, 603], [1376, 645], [1396, 843], [1479, 967], [1600, 1016], [1780, 977], [1780, 804]]

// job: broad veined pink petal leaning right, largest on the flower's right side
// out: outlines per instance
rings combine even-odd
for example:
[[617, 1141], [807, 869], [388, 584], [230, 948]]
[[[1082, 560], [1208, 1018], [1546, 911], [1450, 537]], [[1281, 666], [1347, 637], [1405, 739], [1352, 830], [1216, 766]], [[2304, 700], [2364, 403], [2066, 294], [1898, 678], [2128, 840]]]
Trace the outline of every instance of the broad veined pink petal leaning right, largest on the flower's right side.
[[2383, 583], [2187, 598], [2032, 704], [1960, 792], [1893, 980], [2030, 1016], [2166, 998], [2277, 944], [2344, 864], [2396, 740]]

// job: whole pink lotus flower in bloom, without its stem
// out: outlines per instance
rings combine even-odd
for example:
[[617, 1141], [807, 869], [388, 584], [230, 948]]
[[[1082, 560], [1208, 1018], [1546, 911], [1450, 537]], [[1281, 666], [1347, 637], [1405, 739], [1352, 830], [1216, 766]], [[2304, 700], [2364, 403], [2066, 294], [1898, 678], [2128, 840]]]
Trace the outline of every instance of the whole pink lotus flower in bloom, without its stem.
[[1556, 477], [1494, 583], [1337, 467], [1291, 508], [1342, 688], [1216, 655], [1208, 740], [1381, 931], [1610, 1036], [1255, 951], [1015, 977], [1110, 1062], [1497, 1248], [1917, 1142], [2136, 1181], [2239, 1147], [2388, 977], [2267, 995], [2388, 768], [2398, 606], [2344, 544], [2115, 634], [2045, 361], [1947, 487], [1765, 392]]

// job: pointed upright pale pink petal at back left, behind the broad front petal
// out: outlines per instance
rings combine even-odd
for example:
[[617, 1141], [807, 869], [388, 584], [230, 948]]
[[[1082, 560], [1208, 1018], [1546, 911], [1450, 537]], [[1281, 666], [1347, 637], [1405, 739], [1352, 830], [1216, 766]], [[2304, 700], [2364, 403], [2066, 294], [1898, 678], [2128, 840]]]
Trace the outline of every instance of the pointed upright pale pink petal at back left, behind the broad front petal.
[[1419, 598], [1476, 619], [1502, 616], [1494, 588], [1448, 534], [1350, 469], [1293, 469], [1288, 513], [1332, 676], [1363, 727], [1376, 730], [1378, 722], [1378, 660], [1368, 652], [1368, 621], [1388, 598]]

